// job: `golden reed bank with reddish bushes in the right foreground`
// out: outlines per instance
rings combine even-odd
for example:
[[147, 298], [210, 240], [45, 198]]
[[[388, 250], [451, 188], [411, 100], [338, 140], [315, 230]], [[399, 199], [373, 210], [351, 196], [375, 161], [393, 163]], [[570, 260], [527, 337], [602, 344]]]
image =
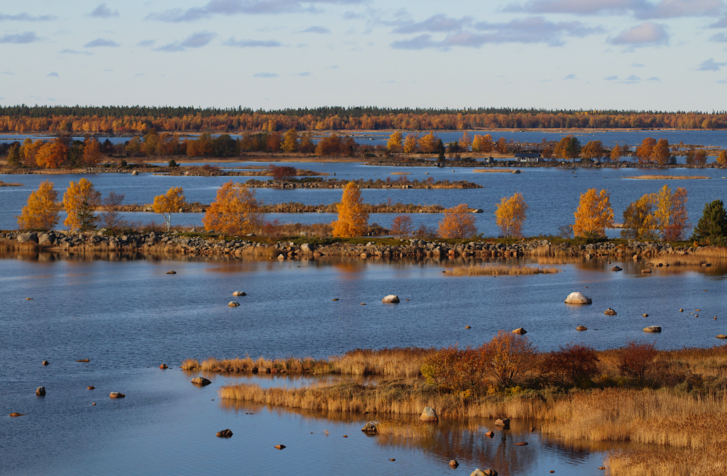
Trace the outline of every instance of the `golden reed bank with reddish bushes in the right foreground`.
[[[507, 333], [498, 336], [502, 334]], [[478, 358], [471, 360], [475, 350], [469, 347], [358, 349], [327, 359], [210, 358], [202, 363], [185, 360], [182, 368], [351, 378], [299, 388], [226, 384], [218, 391], [223, 400], [346, 411], [368, 414], [369, 419], [418, 415], [430, 406], [440, 419], [537, 420], [537, 431], [566, 442], [639, 445], [609, 453], [609, 475], [712, 475], [727, 469], [727, 424], [722, 418], [727, 411], [727, 346], [656, 350], [651, 344], [629, 342], [611, 350], [571, 345], [554, 352], [530, 352], [521, 346], [505, 355], [497, 353], [502, 352], [499, 348], [483, 344], [478, 351], [485, 360], [499, 358], [521, 366], [517, 378], [505, 385], [486, 370], [474, 370]], [[518, 360], [518, 352], [527, 359]], [[458, 372], [465, 378], [458, 378]], [[355, 376], [374, 379], [359, 383]], [[417, 437], [417, 432], [401, 431]]]

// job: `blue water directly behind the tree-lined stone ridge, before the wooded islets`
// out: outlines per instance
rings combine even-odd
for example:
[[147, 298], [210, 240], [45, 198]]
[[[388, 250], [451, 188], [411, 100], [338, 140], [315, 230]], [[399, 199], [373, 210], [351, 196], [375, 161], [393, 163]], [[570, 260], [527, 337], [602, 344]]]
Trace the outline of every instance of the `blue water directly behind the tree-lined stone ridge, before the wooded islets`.
[[[246, 165], [240, 163], [238, 165]], [[258, 163], [255, 163], [259, 165]], [[486, 236], [497, 236], [499, 230], [494, 222], [494, 209], [503, 196], [513, 195], [515, 192], [523, 193], [529, 205], [528, 218], [523, 227], [525, 235], [551, 235], [558, 233], [561, 225], [572, 224], [573, 212], [577, 209], [580, 194], [590, 187], [606, 188], [611, 193], [611, 204], [614, 208], [616, 222], [621, 221], [622, 213], [632, 201], [645, 193], [654, 193], [667, 183], [672, 190], [676, 187], [685, 187], [689, 192], [688, 211], [691, 222], [696, 224], [702, 215], [704, 203], [721, 199], [727, 200], [727, 177], [724, 169], [573, 169], [570, 167], [558, 168], [532, 168], [523, 169], [521, 174], [507, 173], [477, 173], [472, 169], [438, 169], [436, 167], [380, 167], [365, 166], [361, 164], [335, 164], [335, 163], [307, 163], [297, 164], [305, 169], [317, 172], [336, 174], [337, 178], [346, 179], [395, 179], [391, 172], [404, 170], [409, 172], [409, 179], [425, 180], [432, 177], [435, 180], [467, 180], [483, 185], [481, 189], [471, 190], [401, 190], [401, 189], [369, 189], [362, 190], [361, 195], [368, 203], [418, 203], [422, 205], [439, 204], [454, 206], [458, 203], [467, 203], [473, 208], [483, 209], [483, 214], [476, 215], [476, 226], [479, 233]], [[428, 173], [428, 175], [427, 175]], [[698, 175], [711, 177], [710, 179], [673, 179], [673, 180], [636, 180], [622, 177], [632, 177], [642, 174], [666, 175]], [[179, 186], [185, 190], [188, 201], [211, 203], [217, 194], [217, 187], [228, 182], [228, 177], [168, 177], [153, 174], [85, 174], [96, 189], [104, 195], [110, 191], [124, 193], [124, 203], [152, 203], [155, 195], [160, 195], [169, 187]], [[37, 190], [38, 184], [45, 179], [55, 183], [59, 195], [63, 196], [65, 187], [71, 180], [77, 181], [79, 175], [2, 175], [4, 182], [20, 182], [22, 187], [0, 187], [0, 230], [17, 228], [17, 215], [28, 200], [28, 195]], [[247, 177], [232, 177], [235, 182], [244, 182]], [[257, 177], [260, 178], [260, 177]], [[260, 189], [257, 197], [265, 203], [300, 202], [318, 205], [340, 201], [340, 189]], [[388, 227], [395, 214], [382, 214], [371, 217], [370, 222]], [[324, 214], [282, 214], [271, 216], [281, 222], [330, 222], [332, 216]], [[163, 222], [164, 220], [153, 213], [129, 214], [126, 219], [141, 222]], [[174, 214], [172, 222], [180, 225], [201, 225], [201, 214]], [[427, 226], [436, 226], [441, 215], [414, 214], [414, 223], [418, 226], [423, 222]], [[63, 218], [61, 219], [63, 221]], [[59, 225], [63, 228], [63, 225]], [[609, 232], [617, 236], [617, 230]]]

